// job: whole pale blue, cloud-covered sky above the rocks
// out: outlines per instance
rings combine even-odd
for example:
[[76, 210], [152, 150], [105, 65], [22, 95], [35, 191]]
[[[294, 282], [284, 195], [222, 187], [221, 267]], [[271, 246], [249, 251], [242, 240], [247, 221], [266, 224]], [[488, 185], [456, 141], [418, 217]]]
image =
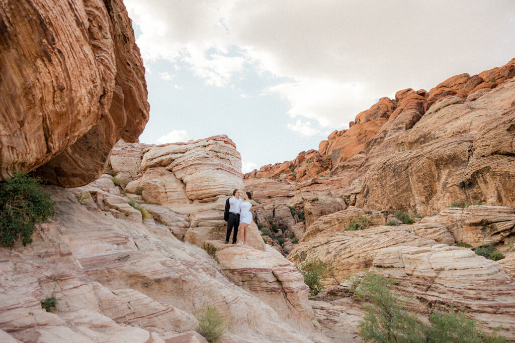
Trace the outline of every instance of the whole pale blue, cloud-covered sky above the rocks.
[[144, 143], [226, 134], [242, 170], [318, 149], [400, 89], [515, 57], [515, 1], [125, 0], [146, 68]]

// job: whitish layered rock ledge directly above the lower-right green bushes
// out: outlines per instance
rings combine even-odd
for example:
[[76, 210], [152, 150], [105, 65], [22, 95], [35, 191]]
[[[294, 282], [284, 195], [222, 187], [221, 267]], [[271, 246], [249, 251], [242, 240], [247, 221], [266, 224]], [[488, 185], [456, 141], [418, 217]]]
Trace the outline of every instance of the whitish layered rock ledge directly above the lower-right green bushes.
[[434, 306], [464, 311], [489, 331], [515, 338], [515, 281], [499, 263], [467, 248], [397, 246], [380, 250], [370, 269], [393, 276], [395, 291], [413, 297], [412, 310], [429, 313]]

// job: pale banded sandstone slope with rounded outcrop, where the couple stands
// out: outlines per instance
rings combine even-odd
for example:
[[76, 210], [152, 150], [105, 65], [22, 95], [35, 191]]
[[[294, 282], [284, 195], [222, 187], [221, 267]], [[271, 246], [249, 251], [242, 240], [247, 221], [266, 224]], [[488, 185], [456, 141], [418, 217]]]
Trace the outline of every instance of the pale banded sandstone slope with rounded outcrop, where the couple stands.
[[[255, 225], [250, 246], [217, 240], [225, 198], [243, 187], [227, 136], [119, 142], [110, 165], [116, 178], [48, 186], [53, 220], [38, 226], [32, 244], [0, 248], [2, 339], [201, 342], [195, 311], [205, 304], [230, 323], [224, 341], [330, 341], [302, 275], [265, 248]], [[52, 296], [56, 311], [48, 313], [40, 300]]]

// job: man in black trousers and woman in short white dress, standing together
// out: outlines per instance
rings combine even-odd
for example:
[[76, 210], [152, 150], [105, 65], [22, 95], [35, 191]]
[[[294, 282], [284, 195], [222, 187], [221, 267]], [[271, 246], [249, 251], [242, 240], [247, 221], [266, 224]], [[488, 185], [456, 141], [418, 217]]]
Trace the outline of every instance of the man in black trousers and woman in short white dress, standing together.
[[240, 240], [238, 244], [247, 245], [247, 231], [250, 223], [252, 223], [251, 209], [258, 208], [259, 204], [252, 200], [250, 192], [241, 194], [237, 189], [232, 192], [232, 196], [226, 201], [226, 208], [224, 219], [227, 222], [226, 244], [229, 244], [231, 231], [234, 228], [232, 235], [232, 244], [236, 244], [238, 237], [238, 226], [243, 230], [243, 237], [245, 243]]

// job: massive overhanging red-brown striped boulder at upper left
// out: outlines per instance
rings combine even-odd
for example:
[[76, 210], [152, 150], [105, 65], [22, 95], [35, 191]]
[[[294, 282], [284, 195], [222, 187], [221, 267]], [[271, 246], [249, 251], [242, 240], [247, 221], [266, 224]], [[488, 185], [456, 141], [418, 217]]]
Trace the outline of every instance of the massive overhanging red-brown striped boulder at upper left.
[[0, 179], [63, 187], [105, 169], [148, 121], [145, 69], [121, 0], [0, 4]]

